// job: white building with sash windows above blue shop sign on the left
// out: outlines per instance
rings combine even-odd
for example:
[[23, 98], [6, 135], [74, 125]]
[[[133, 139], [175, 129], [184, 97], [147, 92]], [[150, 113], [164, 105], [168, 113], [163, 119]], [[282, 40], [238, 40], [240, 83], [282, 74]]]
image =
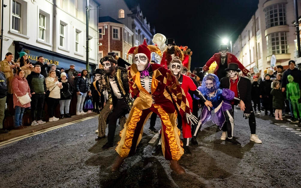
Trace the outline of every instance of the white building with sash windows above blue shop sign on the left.
[[[46, 62], [68, 69], [70, 64], [86, 69], [86, 1], [4, 0], [2, 59], [7, 52], [18, 59], [25, 51], [35, 63]], [[89, 71], [98, 62], [98, 19], [96, 1], [89, 1]], [[9, 20], [9, 21], [8, 21]]]

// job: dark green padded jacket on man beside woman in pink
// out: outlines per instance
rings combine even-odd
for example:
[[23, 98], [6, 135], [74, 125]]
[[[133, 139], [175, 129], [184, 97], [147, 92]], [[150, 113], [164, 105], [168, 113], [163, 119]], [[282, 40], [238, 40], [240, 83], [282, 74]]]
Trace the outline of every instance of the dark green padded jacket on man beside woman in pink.
[[[25, 76], [24, 76], [25, 78]], [[45, 78], [40, 73], [31, 72], [26, 78], [30, 87], [30, 93], [43, 94], [46, 92]]]

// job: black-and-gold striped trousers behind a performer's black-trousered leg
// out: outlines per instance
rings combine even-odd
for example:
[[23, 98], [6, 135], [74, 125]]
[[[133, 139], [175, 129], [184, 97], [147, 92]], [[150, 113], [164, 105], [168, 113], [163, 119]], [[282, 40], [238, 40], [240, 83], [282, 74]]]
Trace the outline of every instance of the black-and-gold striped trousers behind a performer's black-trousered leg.
[[[112, 110], [113, 107], [112, 109], [110, 109], [110, 104], [106, 103], [106, 105], [104, 105], [104, 108], [100, 111], [98, 116], [98, 137], [103, 137], [106, 134], [107, 118]], [[126, 116], [123, 115], [119, 117], [119, 121], [120, 121], [121, 129], [123, 129], [124, 124], [126, 123]]]

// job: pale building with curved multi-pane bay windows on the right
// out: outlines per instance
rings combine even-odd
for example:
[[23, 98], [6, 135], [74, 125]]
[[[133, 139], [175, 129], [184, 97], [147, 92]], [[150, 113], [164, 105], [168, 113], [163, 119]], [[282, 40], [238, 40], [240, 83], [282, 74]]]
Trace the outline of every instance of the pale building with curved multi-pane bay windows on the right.
[[[301, 11], [298, 0], [298, 12]], [[257, 66], [260, 75], [271, 66], [271, 56], [276, 56], [276, 66], [288, 67], [296, 60], [293, 26], [295, 20], [293, 0], [259, 0], [258, 9], [233, 45], [233, 54], [253, 72]]]

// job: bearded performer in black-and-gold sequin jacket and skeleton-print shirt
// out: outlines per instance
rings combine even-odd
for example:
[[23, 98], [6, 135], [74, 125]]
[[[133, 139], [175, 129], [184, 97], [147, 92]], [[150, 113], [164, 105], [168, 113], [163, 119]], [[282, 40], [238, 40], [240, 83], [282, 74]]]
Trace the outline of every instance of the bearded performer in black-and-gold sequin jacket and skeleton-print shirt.
[[[105, 88], [108, 92], [108, 100], [98, 116], [98, 137], [96, 140], [105, 137], [105, 129], [109, 124], [107, 143], [102, 146], [101, 150], [107, 150], [114, 147], [114, 135], [116, 130], [117, 119], [122, 122], [124, 116], [129, 113], [130, 94], [128, 85], [127, 71], [123, 67], [116, 66], [117, 60], [110, 55], [101, 58], [100, 63], [104, 67]], [[104, 84], [104, 83], [102, 83]], [[121, 118], [123, 117], [123, 119]]]

